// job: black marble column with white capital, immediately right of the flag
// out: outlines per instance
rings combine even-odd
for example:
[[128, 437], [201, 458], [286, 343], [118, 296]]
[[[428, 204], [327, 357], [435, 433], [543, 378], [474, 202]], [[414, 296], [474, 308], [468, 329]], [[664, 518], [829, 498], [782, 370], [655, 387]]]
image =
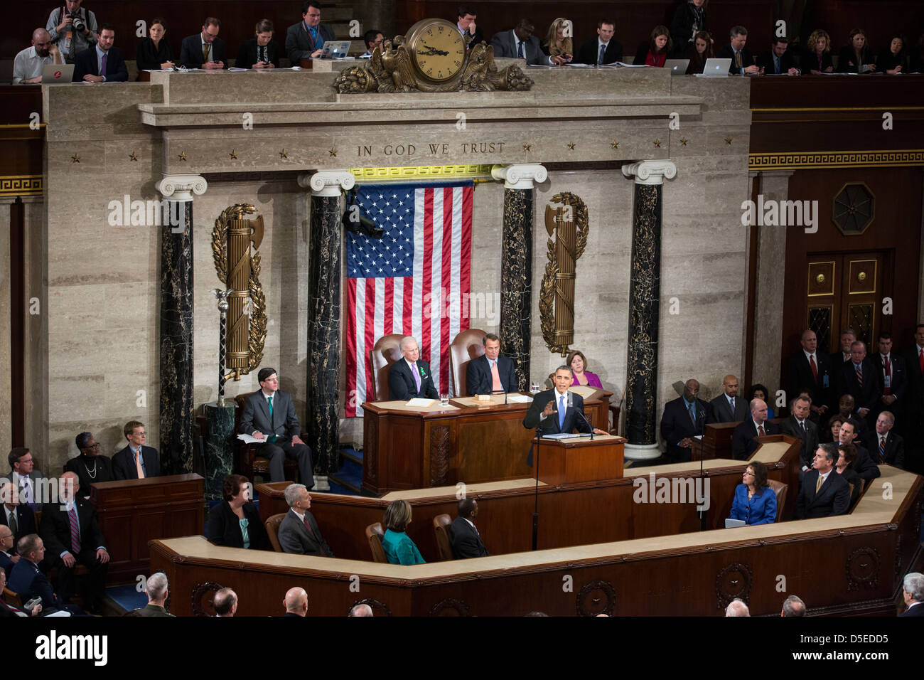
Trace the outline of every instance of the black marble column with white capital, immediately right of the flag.
[[501, 323], [498, 335], [513, 359], [517, 385], [529, 389], [529, 340], [532, 315], [532, 189], [548, 171], [534, 164], [495, 166], [504, 180], [504, 239], [501, 256]]

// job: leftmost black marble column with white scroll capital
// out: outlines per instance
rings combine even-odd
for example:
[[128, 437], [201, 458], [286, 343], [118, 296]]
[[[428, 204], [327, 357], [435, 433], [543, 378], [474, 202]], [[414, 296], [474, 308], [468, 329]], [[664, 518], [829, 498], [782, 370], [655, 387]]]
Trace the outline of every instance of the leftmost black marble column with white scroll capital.
[[192, 465], [192, 197], [208, 188], [199, 175], [164, 175], [155, 185], [170, 203], [161, 228], [160, 452], [165, 474]]

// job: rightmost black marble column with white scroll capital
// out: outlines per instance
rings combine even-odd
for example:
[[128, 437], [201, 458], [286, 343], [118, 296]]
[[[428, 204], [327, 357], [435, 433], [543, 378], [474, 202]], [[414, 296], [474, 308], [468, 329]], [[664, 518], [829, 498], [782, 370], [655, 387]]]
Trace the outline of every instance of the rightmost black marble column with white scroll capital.
[[629, 332], [626, 352], [626, 458], [647, 460], [658, 449], [658, 315], [661, 306], [661, 193], [677, 167], [666, 160], [623, 166], [635, 179]]

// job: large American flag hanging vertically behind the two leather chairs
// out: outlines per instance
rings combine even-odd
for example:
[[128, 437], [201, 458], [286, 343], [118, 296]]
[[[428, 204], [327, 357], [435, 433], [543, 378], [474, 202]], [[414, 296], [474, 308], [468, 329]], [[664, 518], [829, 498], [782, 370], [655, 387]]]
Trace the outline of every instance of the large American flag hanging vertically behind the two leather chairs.
[[416, 338], [433, 385], [449, 392], [449, 343], [468, 328], [473, 192], [471, 181], [359, 188], [361, 214], [384, 234], [346, 233], [347, 416], [362, 415], [369, 351], [390, 333]]

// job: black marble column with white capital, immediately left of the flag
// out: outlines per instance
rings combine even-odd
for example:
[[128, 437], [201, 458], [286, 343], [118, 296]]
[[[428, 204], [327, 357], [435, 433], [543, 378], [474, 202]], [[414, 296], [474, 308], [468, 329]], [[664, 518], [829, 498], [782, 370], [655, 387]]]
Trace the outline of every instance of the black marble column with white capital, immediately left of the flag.
[[308, 430], [317, 480], [340, 466], [340, 255], [343, 249], [340, 195], [353, 188], [346, 170], [322, 170], [301, 175], [298, 184], [311, 190], [308, 243]]

